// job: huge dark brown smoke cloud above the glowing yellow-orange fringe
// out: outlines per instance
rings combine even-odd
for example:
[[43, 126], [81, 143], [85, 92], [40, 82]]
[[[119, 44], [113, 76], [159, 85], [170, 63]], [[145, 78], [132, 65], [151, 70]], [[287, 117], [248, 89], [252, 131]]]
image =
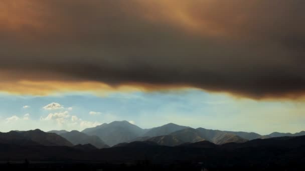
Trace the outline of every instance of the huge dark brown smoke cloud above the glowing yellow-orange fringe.
[[0, 0], [4, 80], [305, 93], [303, 0]]

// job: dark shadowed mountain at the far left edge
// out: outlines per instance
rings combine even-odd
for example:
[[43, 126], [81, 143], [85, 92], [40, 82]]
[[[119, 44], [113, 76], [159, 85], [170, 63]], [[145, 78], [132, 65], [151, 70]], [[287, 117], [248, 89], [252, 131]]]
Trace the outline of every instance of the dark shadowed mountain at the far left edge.
[[56, 133], [39, 129], [29, 131], [10, 131], [0, 133], [0, 142], [20, 145], [72, 146], [67, 139]]

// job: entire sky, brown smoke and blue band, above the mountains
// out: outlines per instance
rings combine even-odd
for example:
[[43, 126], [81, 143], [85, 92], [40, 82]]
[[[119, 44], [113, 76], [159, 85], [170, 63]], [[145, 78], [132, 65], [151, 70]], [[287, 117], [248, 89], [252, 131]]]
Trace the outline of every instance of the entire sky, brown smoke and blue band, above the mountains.
[[304, 0], [0, 0], [0, 131], [305, 129]]

